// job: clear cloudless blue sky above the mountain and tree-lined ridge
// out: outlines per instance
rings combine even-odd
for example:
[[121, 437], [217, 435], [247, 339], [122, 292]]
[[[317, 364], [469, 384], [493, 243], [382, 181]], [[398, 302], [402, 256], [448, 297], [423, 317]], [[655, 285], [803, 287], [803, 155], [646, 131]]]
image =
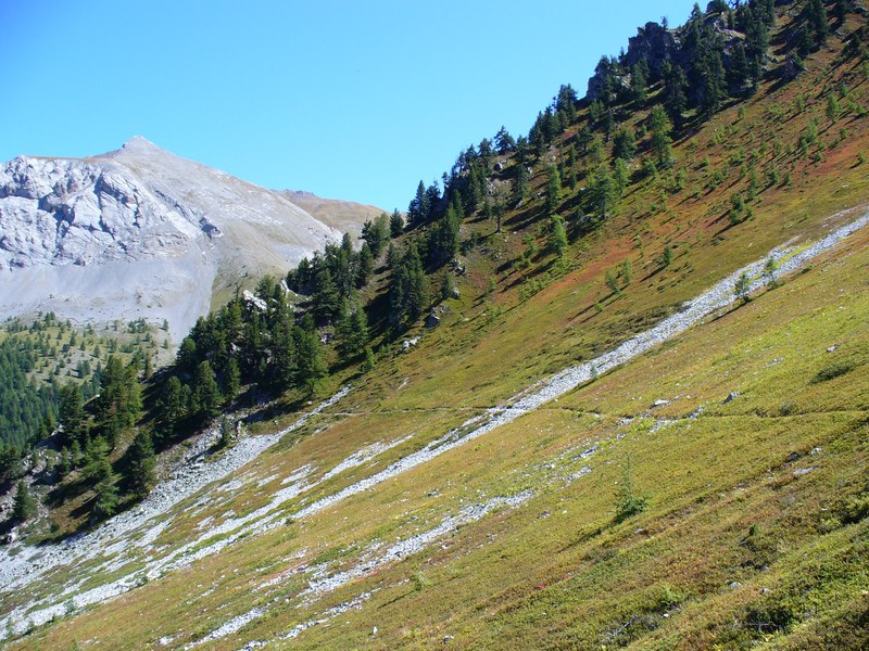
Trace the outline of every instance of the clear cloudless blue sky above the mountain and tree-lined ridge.
[[0, 0], [0, 159], [143, 136], [267, 188], [405, 209], [419, 179], [690, 0]]

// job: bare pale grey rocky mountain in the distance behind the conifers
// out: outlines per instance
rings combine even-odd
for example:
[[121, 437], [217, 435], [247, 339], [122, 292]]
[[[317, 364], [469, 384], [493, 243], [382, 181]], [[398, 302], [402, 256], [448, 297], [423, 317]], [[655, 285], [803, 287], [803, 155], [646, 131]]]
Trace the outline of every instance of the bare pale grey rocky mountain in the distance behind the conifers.
[[358, 232], [376, 210], [305, 199], [316, 217], [287, 192], [140, 137], [86, 158], [18, 156], [0, 168], [0, 318], [144, 317], [186, 333], [213, 301]]

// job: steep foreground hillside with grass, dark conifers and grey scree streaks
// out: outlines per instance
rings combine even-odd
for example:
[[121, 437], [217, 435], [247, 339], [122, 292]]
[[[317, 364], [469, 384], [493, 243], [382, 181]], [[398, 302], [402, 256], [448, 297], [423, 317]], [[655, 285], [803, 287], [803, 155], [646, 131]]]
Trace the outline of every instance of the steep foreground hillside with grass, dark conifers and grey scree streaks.
[[745, 7], [201, 320], [163, 481], [0, 557], [10, 648], [869, 646], [867, 12]]

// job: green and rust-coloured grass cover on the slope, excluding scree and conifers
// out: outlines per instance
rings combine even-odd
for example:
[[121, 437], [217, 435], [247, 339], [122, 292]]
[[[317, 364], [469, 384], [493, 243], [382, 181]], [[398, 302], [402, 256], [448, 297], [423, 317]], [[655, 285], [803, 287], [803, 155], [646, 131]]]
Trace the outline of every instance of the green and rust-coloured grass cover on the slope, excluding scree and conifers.
[[[632, 186], [619, 216], [575, 244], [570, 269], [530, 297], [528, 283], [545, 273], [545, 258], [537, 269], [496, 269], [518, 255], [536, 225], [522, 230], [514, 215], [501, 237], [489, 234], [491, 225], [466, 225], [465, 234], [477, 228], [488, 237], [469, 255], [463, 298], [450, 303], [442, 326], [357, 382], [338, 407], [351, 413], [323, 419], [315, 434], [310, 426], [263, 456], [248, 475], [277, 475], [265, 485], [274, 490], [307, 463], [325, 471], [363, 445], [415, 434], [291, 500], [291, 513], [302, 499], [369, 475], [480, 408], [612, 347], [771, 246], [846, 219], [829, 217], [869, 195], [866, 165], [856, 165], [857, 152], [869, 151], [867, 120], [845, 115], [824, 130], [823, 98], [844, 75], [852, 75], [847, 86], [856, 104], [865, 106], [869, 98], [865, 72], [836, 65], [834, 55], [822, 52], [801, 79], [763, 89], [744, 104], [744, 117], [727, 110], [679, 143], [675, 170]], [[813, 116], [828, 144], [817, 163], [784, 151]], [[840, 128], [846, 138], [829, 146]], [[783, 143], [780, 154], [765, 135], [769, 130]], [[780, 176], [791, 173], [793, 184], [766, 188], [748, 202], [754, 217], [728, 228], [730, 196], [744, 191], [746, 180], [727, 161], [739, 145], [760, 151], [764, 141], [769, 144], [758, 171], [777, 165]], [[680, 168], [687, 186], [668, 192], [666, 177]], [[710, 191], [716, 168], [726, 171], [726, 181]], [[652, 213], [653, 203], [659, 208]], [[100, 639], [103, 648], [141, 648], [185, 622], [173, 641], [181, 644], [254, 605], [290, 600], [213, 643], [236, 649], [377, 589], [361, 610], [302, 633], [294, 643], [431, 648], [453, 636], [453, 646], [489, 648], [865, 646], [867, 520], [844, 523], [843, 509], [869, 480], [866, 244], [865, 235], [855, 238], [783, 286], [474, 444], [37, 631], [23, 644], [67, 648], [74, 639]], [[677, 256], [657, 270], [653, 260], [665, 245]], [[628, 256], [633, 281], [622, 296], [612, 296], [604, 271]], [[486, 298], [489, 273], [499, 284]], [[833, 345], [839, 347], [828, 353]], [[854, 369], [814, 381], [840, 361]], [[733, 392], [740, 397], [722, 404]], [[650, 409], [658, 398], [671, 404]], [[698, 418], [684, 418], [701, 406]], [[660, 418], [673, 422], [656, 423]], [[593, 445], [596, 452], [575, 459]], [[617, 523], [614, 505], [628, 458], [650, 507]], [[587, 465], [588, 474], [568, 481]], [[407, 538], [483, 496], [524, 489], [534, 492], [526, 505], [459, 527], [313, 603], [297, 608], [294, 595], [308, 578], [301, 573], [252, 590], [303, 564], [348, 567], [374, 541]], [[229, 510], [244, 513], [266, 501], [262, 492], [242, 490], [211, 514], [219, 521]], [[179, 518], [156, 544], [186, 540], [209, 514]], [[740, 585], [729, 587], [732, 582]], [[776, 622], [779, 633], [768, 625]]]

